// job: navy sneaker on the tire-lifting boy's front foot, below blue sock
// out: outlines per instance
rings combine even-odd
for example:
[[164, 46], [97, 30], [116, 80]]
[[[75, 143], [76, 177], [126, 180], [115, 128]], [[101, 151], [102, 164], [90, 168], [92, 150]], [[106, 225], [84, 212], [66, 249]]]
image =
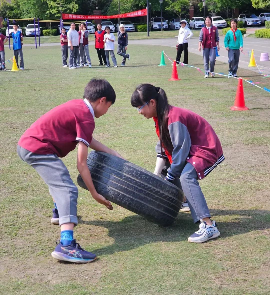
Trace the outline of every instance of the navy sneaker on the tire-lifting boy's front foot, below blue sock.
[[[57, 243], [59, 241], [59, 243]], [[52, 252], [52, 257], [61, 261], [68, 261], [72, 263], [87, 263], [94, 261], [97, 256], [81, 248], [72, 240], [70, 245], [64, 246], [60, 240], [56, 242], [55, 250]]]

